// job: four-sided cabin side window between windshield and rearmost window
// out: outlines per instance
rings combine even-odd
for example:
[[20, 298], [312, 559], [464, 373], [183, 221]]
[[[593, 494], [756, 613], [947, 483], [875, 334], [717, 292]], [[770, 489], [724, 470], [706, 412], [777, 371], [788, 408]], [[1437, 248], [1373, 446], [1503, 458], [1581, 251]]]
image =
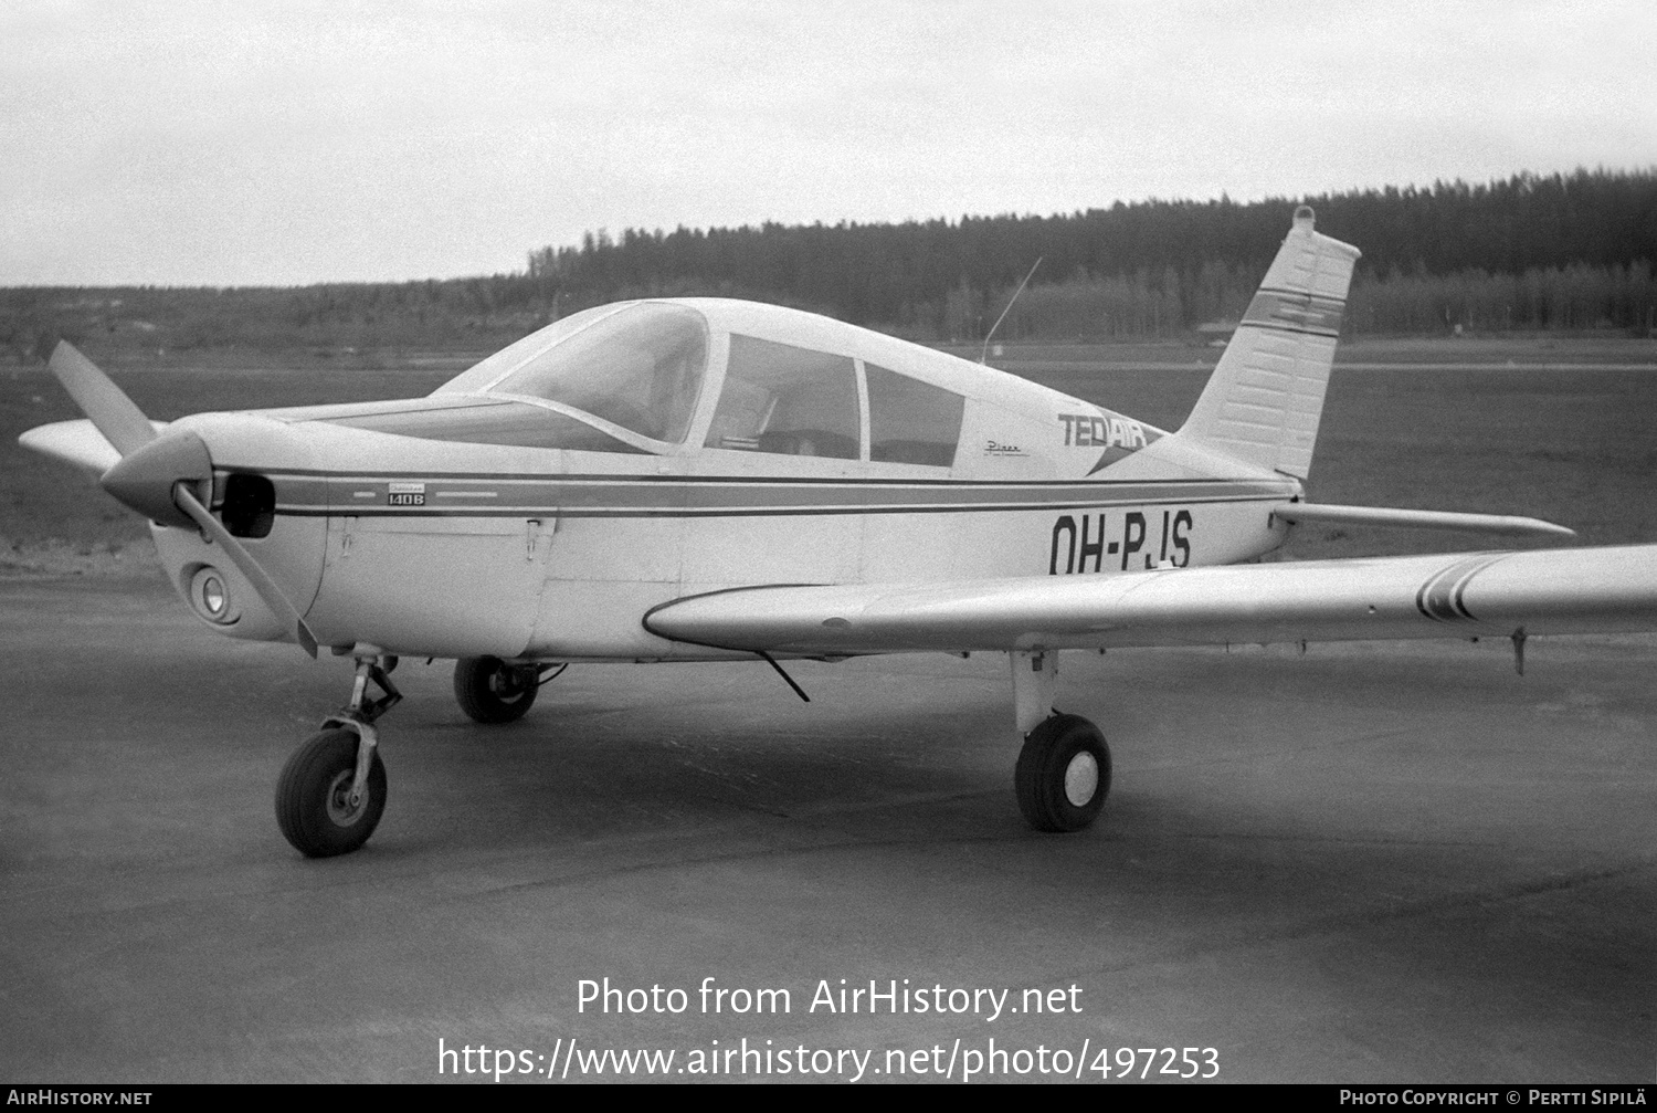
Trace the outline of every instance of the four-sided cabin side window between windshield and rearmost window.
[[857, 459], [857, 365], [847, 355], [731, 337], [709, 448]]

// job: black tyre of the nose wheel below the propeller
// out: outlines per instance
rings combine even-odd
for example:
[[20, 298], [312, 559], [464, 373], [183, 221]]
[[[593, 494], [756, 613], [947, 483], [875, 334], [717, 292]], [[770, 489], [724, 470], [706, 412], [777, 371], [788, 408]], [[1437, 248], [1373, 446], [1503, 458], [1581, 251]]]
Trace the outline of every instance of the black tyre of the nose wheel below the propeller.
[[374, 750], [365, 798], [351, 806], [356, 731], [325, 730], [308, 738], [277, 778], [277, 826], [307, 858], [350, 854], [379, 826], [386, 809], [386, 766]]

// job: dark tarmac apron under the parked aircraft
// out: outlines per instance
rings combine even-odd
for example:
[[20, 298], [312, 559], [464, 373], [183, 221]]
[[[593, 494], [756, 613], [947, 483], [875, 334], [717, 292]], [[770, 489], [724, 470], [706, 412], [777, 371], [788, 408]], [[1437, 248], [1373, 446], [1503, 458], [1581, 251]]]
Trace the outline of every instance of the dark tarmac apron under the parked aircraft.
[[[379, 831], [307, 861], [272, 791], [348, 662], [219, 639], [159, 577], [3, 581], [0, 1080], [575, 1081], [605, 1048], [689, 1080], [746, 1038], [774, 1053], [751, 1080], [819, 1050], [873, 1050], [863, 1081], [973, 1052], [1100, 1080], [1105, 1048], [1117, 1081], [1118, 1048], [1168, 1047], [1220, 1081], [1652, 1081], [1657, 639], [1534, 639], [1526, 665], [1069, 654], [1059, 707], [1102, 725], [1115, 790], [1041, 836], [993, 655], [802, 663], [809, 705], [764, 663], [577, 665], [499, 728], [411, 660]], [[583, 1009], [605, 977], [684, 1012]], [[790, 1009], [704, 1013], [704, 979]], [[812, 1009], [840, 979], [1011, 992], [994, 1020], [981, 994]], [[828, 1060], [810, 1077], [855, 1073]]]

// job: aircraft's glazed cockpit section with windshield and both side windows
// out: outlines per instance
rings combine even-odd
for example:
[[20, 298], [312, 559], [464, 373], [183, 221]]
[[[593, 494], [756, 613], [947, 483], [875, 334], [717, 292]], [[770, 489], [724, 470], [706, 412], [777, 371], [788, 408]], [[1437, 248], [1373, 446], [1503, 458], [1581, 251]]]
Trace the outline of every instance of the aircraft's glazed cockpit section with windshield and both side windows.
[[[828, 348], [867, 347], [857, 330], [797, 310], [600, 305], [524, 337], [424, 400], [328, 420], [404, 436], [620, 453], [666, 453], [696, 431], [709, 450], [951, 466], [966, 403], [959, 393], [852, 355], [747, 335], [824, 338], [825, 327], [848, 330]], [[703, 398], [708, 383], [717, 400]], [[699, 408], [708, 411], [701, 425]]]

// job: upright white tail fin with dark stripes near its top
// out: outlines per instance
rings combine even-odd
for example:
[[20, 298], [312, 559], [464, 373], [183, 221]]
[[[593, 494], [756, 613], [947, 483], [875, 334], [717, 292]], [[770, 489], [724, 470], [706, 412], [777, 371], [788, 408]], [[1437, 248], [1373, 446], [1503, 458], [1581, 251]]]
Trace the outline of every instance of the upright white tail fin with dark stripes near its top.
[[1294, 211], [1278, 257], [1180, 436], [1304, 479], [1359, 250]]

